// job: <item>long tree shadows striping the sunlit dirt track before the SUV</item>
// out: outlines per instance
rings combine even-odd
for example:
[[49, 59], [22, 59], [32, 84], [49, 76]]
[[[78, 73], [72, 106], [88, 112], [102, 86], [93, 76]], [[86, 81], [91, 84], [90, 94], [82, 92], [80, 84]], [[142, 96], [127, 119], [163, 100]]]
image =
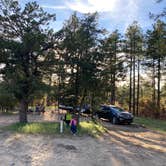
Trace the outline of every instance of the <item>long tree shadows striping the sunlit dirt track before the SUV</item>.
[[[116, 126], [117, 127], [117, 126]], [[125, 127], [124, 127], [125, 128]], [[124, 129], [123, 126], [116, 129], [107, 128], [106, 138], [110, 139], [122, 147], [133, 146], [141, 147], [146, 150], [151, 150], [154, 152], [166, 153], [166, 143], [161, 140], [157, 140], [153, 135], [155, 133], [151, 131], [139, 130], [137, 132]], [[146, 138], [146, 132], [151, 132], [151, 138]], [[141, 133], [141, 135], [139, 135]], [[164, 139], [164, 136], [163, 136]]]

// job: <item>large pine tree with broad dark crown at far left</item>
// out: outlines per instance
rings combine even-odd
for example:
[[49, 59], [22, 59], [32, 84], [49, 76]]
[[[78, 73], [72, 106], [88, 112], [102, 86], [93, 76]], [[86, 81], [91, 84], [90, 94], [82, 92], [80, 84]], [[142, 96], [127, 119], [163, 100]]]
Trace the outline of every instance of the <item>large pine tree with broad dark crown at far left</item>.
[[43, 76], [54, 65], [53, 33], [47, 26], [55, 15], [44, 12], [36, 2], [24, 9], [13, 0], [1, 0], [0, 5], [1, 73], [20, 102], [20, 122], [27, 122], [29, 101], [37, 90], [45, 89]]

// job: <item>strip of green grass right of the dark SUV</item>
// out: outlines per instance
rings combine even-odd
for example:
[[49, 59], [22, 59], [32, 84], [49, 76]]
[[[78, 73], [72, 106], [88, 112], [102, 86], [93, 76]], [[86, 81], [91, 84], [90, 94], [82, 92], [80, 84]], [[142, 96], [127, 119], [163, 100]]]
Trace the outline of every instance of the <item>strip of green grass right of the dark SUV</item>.
[[136, 117], [134, 122], [137, 124], [144, 125], [145, 127], [148, 127], [150, 129], [166, 133], [166, 121], [156, 120], [151, 118]]

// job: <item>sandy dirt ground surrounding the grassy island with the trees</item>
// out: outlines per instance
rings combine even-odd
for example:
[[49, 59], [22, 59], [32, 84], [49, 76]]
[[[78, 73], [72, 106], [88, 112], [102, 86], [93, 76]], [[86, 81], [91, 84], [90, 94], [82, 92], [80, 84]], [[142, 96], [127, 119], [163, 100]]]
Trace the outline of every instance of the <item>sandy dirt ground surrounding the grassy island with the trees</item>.
[[[54, 115], [29, 115], [53, 121]], [[0, 126], [17, 116], [0, 115]], [[0, 166], [166, 166], [166, 134], [137, 125], [111, 125], [100, 138], [26, 135], [0, 130]]]

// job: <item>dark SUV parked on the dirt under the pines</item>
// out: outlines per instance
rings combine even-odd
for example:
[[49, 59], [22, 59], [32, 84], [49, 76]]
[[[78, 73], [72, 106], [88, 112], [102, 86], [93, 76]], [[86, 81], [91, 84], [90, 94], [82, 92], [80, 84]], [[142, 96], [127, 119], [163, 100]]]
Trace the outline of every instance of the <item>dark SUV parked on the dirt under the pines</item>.
[[118, 123], [132, 123], [133, 115], [123, 109], [112, 106], [112, 105], [102, 105], [100, 110], [97, 112], [99, 118], [104, 118], [110, 120], [113, 124]]

